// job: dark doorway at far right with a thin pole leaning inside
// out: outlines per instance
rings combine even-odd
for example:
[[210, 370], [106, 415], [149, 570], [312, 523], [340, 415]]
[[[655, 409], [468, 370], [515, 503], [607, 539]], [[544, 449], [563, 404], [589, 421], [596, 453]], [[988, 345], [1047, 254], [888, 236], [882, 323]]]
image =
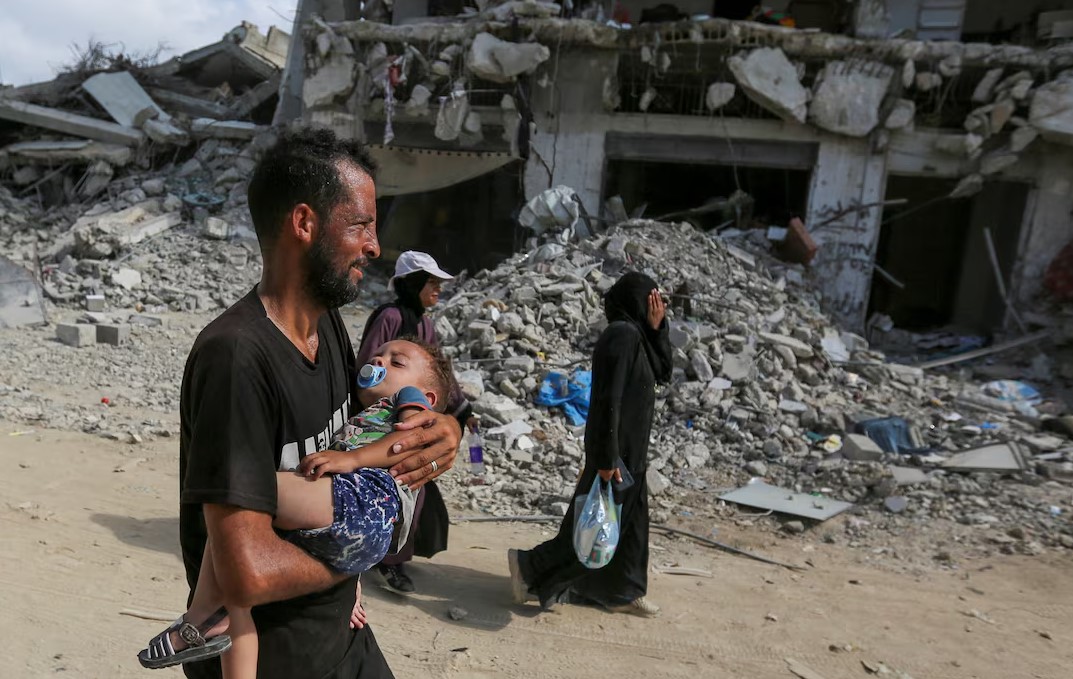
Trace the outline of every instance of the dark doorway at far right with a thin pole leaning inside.
[[955, 179], [887, 179], [876, 264], [897, 283], [874, 276], [869, 315], [883, 313], [896, 327], [951, 328], [989, 334], [1002, 326], [1005, 305], [995, 281], [984, 230], [990, 231], [1006, 289], [1021, 237], [1030, 186], [988, 181], [972, 197], [946, 197]]

